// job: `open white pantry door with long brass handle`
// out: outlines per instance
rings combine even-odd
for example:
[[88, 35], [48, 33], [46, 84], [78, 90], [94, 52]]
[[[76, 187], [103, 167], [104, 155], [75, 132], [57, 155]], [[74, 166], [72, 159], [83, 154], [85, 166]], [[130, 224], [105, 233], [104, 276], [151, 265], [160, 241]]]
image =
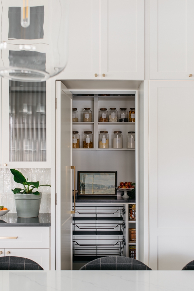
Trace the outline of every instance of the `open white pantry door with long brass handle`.
[[56, 81], [56, 268], [72, 269], [72, 94]]

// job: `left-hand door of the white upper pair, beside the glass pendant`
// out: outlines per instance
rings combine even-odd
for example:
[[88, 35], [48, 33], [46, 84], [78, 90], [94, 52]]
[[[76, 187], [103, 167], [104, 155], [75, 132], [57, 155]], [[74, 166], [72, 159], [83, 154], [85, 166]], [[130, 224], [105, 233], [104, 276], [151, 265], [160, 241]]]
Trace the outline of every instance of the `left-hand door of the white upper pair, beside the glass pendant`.
[[100, 0], [71, 0], [69, 9], [68, 63], [57, 78], [99, 80]]

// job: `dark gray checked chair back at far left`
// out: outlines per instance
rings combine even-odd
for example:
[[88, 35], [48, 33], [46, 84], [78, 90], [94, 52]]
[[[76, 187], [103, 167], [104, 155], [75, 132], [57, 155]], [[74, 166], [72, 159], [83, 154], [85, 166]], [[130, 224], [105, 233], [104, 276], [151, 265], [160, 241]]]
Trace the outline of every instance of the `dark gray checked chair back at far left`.
[[44, 270], [36, 262], [22, 257], [0, 257], [0, 270]]

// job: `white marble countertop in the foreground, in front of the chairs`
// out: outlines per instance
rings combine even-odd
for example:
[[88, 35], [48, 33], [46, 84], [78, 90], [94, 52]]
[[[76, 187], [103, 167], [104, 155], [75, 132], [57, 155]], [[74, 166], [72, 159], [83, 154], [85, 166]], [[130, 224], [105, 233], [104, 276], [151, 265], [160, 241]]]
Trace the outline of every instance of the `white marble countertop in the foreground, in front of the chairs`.
[[0, 291], [191, 291], [194, 271], [0, 271]]

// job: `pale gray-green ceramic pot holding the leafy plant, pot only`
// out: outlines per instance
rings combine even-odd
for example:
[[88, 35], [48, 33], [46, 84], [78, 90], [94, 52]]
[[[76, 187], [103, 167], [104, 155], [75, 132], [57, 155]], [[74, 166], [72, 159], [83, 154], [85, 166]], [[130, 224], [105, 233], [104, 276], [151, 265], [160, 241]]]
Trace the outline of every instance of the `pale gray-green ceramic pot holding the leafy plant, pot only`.
[[16, 212], [18, 217], [37, 217], [39, 216], [42, 193], [40, 195], [30, 194], [13, 194]]

